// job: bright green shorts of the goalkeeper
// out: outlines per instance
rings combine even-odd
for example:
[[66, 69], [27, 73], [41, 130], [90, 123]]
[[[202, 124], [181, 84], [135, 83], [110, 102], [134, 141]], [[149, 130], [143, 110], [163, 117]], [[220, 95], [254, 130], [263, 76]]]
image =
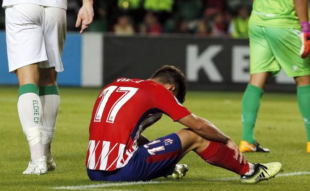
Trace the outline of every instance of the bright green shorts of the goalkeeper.
[[276, 75], [282, 67], [289, 77], [309, 75], [310, 57], [300, 57], [300, 32], [293, 28], [249, 24], [250, 73]]

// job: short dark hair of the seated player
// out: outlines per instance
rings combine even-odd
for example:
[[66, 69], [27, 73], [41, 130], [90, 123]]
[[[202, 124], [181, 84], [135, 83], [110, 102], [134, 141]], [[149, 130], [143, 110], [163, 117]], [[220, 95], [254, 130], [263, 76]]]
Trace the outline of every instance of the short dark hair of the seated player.
[[163, 65], [155, 71], [151, 79], [156, 79], [160, 84], [174, 85], [173, 95], [180, 103], [184, 103], [187, 85], [185, 75], [179, 67]]

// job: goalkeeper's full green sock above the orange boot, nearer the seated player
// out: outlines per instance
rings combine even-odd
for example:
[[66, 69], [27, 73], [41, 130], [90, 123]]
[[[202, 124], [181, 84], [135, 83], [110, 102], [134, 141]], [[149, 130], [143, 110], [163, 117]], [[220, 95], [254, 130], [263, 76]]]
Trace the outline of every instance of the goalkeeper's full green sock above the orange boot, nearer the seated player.
[[242, 140], [246, 140], [250, 144], [255, 142], [253, 128], [262, 95], [262, 89], [248, 84], [242, 98]]

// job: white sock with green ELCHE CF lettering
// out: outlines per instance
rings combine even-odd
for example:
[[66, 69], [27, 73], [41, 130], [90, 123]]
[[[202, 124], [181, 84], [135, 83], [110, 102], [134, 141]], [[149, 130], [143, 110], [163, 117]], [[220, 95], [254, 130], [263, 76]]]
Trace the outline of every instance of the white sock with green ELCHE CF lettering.
[[35, 93], [24, 93], [17, 102], [18, 115], [29, 147], [31, 163], [43, 157], [41, 144], [42, 105]]

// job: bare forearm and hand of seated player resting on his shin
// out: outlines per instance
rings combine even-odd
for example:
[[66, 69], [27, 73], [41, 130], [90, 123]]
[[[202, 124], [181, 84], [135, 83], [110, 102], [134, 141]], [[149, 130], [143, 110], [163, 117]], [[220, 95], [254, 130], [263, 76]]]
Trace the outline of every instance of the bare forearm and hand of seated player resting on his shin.
[[194, 114], [190, 114], [180, 119], [178, 122], [186, 127], [191, 128], [194, 132], [207, 140], [223, 142], [229, 148], [233, 149], [235, 153], [234, 158], [238, 160], [239, 163], [246, 163], [244, 155], [241, 153], [241, 151], [238, 149], [237, 145], [232, 141], [232, 139], [225, 135], [220, 129], [215, 127], [208, 120], [200, 118]]

